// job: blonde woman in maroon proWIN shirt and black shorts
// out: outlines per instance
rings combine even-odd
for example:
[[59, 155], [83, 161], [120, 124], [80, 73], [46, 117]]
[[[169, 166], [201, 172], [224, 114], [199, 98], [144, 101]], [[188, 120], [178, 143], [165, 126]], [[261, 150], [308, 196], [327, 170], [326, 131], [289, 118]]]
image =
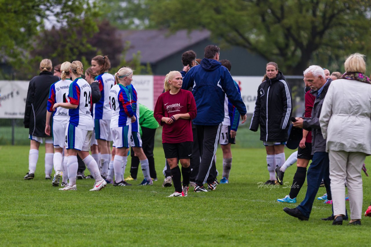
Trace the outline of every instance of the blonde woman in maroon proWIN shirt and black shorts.
[[[170, 71], [164, 80], [165, 93], [156, 102], [154, 117], [162, 128], [162, 146], [170, 166], [175, 192], [168, 197], [187, 196], [191, 174], [193, 134], [191, 119], [196, 117], [196, 102], [190, 91], [181, 89], [182, 75]], [[178, 159], [182, 166], [180, 171]], [[183, 175], [183, 188], [181, 186]]]

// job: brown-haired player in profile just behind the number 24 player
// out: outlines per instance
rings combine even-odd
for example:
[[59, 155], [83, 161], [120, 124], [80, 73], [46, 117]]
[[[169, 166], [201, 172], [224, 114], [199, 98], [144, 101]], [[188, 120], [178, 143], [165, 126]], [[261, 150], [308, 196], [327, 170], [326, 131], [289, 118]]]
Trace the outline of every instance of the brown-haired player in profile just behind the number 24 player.
[[111, 62], [107, 56], [95, 56], [91, 64], [93, 72], [98, 74], [95, 80], [99, 82], [99, 89], [102, 94], [101, 100], [93, 106], [93, 117], [95, 138], [98, 141], [98, 147], [101, 151], [101, 175], [106, 178], [108, 175], [108, 164], [111, 158], [112, 141], [111, 128], [109, 128], [112, 114], [109, 104], [109, 90], [111, 90], [116, 83], [115, 77], [108, 73], [108, 70], [111, 68]]

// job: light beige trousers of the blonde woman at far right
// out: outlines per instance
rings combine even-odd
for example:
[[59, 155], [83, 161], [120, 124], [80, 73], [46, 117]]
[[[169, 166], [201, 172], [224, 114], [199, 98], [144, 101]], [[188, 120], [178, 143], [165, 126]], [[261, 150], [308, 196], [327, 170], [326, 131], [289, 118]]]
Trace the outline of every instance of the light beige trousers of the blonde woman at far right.
[[366, 154], [329, 150], [332, 206], [334, 215], [345, 215], [345, 186], [347, 179], [351, 219], [360, 219], [363, 191], [361, 168]]

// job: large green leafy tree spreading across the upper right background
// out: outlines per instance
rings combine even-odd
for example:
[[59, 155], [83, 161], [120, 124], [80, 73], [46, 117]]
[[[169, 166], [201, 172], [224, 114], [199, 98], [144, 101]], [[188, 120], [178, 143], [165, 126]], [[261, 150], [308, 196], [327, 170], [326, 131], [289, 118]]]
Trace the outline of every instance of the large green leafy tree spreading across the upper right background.
[[275, 61], [285, 74], [302, 74], [310, 63], [339, 69], [339, 61], [351, 53], [371, 55], [368, 0], [148, 0], [147, 4], [156, 25], [171, 31], [208, 29], [226, 44]]

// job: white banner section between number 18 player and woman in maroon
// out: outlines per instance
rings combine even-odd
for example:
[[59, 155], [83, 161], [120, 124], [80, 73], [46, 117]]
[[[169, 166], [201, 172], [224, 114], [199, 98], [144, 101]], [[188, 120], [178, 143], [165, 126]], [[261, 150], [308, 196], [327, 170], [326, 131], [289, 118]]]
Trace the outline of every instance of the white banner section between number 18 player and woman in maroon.
[[138, 103], [153, 111], [153, 76], [133, 76], [131, 82], [138, 93]]

